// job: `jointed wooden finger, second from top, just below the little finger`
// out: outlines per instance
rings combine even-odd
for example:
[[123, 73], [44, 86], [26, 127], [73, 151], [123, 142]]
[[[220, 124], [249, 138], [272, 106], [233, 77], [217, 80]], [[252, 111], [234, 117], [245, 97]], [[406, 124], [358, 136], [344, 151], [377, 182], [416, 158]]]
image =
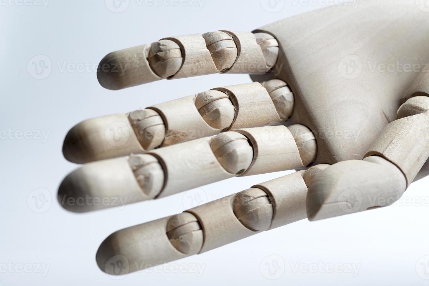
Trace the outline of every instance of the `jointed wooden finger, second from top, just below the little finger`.
[[66, 135], [63, 154], [75, 163], [139, 154], [231, 129], [277, 125], [292, 111], [293, 94], [281, 80], [225, 86], [85, 120]]

